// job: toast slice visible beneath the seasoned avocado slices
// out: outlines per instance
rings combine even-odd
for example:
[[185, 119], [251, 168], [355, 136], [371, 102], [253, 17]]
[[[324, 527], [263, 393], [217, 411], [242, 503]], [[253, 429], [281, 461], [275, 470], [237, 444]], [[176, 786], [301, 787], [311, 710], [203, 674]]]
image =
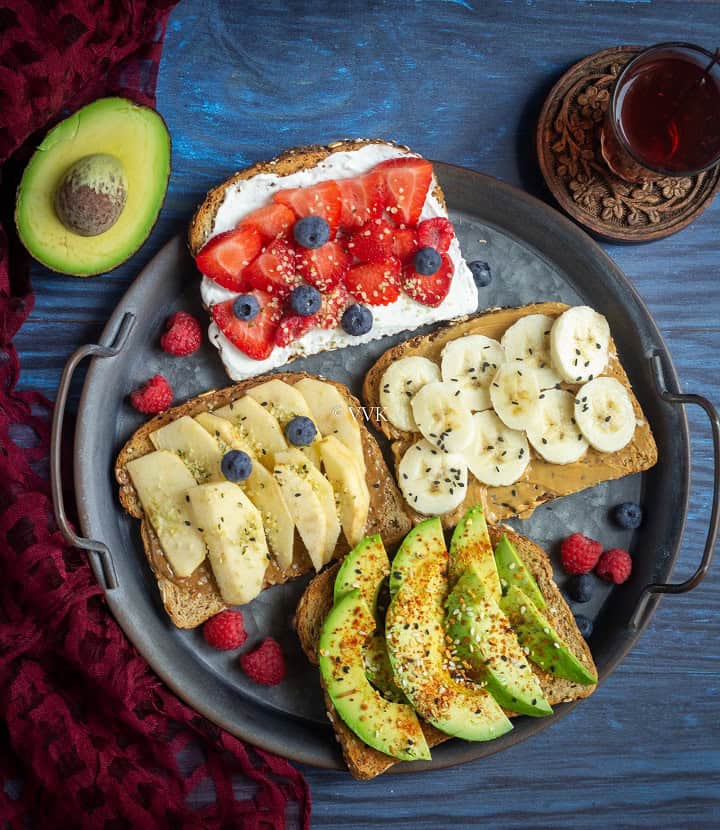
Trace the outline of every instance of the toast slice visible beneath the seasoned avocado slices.
[[[521, 559], [535, 578], [540, 592], [547, 602], [547, 609], [543, 613], [552, 622], [555, 630], [577, 659], [597, 676], [597, 668], [590, 648], [580, 634], [575, 624], [575, 618], [553, 580], [552, 565], [545, 551], [535, 542], [521, 536], [506, 525], [488, 525], [488, 531], [493, 546], [497, 544], [503, 533], [508, 535]], [[338, 565], [332, 565], [310, 582], [300, 599], [295, 614], [295, 629], [300, 639], [300, 645], [308, 660], [314, 665], [318, 663], [317, 649], [322, 624], [333, 603], [333, 587], [337, 570]], [[533, 663], [529, 665], [536, 674], [545, 698], [551, 706], [588, 697], [597, 688], [596, 686], [583, 686], [579, 683], [555, 677]], [[363, 743], [340, 720], [324, 689], [323, 694], [328, 718], [335, 730], [348, 769], [355, 778], [361, 781], [374, 778], [385, 772], [393, 764], [398, 763], [395, 758]], [[517, 717], [514, 712], [507, 712], [506, 714], [511, 718]], [[449, 736], [435, 729], [429, 723], [421, 721], [421, 725], [431, 748], [450, 740]]]

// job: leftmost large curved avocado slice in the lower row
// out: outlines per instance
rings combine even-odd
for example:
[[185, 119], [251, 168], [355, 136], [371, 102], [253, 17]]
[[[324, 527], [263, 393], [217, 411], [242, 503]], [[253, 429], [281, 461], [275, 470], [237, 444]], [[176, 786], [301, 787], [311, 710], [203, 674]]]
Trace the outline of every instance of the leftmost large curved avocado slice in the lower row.
[[320, 673], [348, 728], [374, 749], [403, 761], [429, 760], [430, 750], [412, 707], [385, 700], [365, 675], [363, 645], [375, 619], [359, 590], [345, 594], [320, 633]]

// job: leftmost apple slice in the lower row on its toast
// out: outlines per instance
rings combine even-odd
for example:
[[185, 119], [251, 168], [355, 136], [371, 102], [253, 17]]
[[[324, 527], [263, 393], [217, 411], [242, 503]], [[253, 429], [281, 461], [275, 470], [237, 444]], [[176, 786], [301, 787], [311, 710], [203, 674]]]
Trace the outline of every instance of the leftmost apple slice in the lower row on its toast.
[[190, 576], [206, 555], [185, 500], [196, 485], [192, 473], [169, 450], [128, 461], [126, 468], [170, 567], [177, 576]]

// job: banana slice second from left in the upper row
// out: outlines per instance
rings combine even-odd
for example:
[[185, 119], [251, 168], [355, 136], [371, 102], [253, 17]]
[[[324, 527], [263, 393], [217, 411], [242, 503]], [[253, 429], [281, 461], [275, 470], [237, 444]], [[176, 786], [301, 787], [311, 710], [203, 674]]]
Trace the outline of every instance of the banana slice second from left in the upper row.
[[466, 406], [481, 412], [490, 409], [488, 387], [504, 362], [505, 351], [497, 340], [484, 334], [469, 334], [451, 340], [442, 350], [442, 378], [458, 383]]

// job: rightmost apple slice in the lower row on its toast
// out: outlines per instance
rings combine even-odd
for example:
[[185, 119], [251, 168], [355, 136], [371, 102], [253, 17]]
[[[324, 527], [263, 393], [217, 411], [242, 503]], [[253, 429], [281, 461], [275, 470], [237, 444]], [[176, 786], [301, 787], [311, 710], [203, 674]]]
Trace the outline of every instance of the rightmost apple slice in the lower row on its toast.
[[351, 548], [365, 535], [370, 491], [360, 472], [356, 456], [334, 435], [319, 444], [325, 475], [328, 477], [340, 512], [340, 524]]

